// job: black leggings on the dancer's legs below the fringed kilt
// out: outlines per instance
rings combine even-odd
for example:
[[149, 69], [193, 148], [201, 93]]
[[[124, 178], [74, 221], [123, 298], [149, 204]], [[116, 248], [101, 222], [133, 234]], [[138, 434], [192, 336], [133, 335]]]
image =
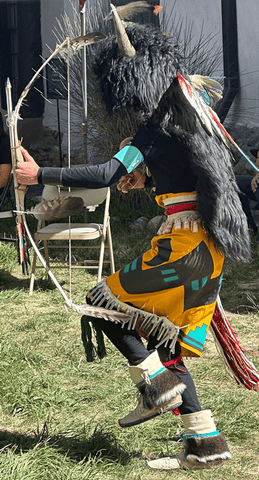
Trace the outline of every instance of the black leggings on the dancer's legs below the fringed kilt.
[[[89, 302], [89, 299], [87, 299]], [[102, 318], [92, 318], [115, 347], [127, 358], [130, 365], [138, 365], [143, 362], [149, 355], [150, 351], [154, 350], [158, 340], [155, 337], [151, 337], [147, 348], [144, 346], [139, 334], [135, 330], [127, 330], [127, 325], [121, 328], [120, 324], [108, 322]], [[179, 343], [176, 343], [175, 353], [172, 355], [168, 347], [160, 346], [158, 348], [158, 354], [162, 363], [173, 360], [180, 355], [181, 347]], [[201, 410], [201, 406], [197, 397], [196, 389], [190, 373], [185, 365], [177, 363], [176, 365], [170, 365], [168, 367], [175, 375], [186, 385], [186, 389], [182, 393], [183, 403], [179, 407], [181, 415], [186, 413], [194, 413]]]

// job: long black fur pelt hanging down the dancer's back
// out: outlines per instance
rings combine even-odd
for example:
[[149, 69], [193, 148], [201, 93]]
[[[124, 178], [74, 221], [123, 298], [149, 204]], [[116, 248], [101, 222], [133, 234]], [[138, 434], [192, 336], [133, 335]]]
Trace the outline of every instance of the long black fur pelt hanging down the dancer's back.
[[235, 151], [231, 143], [227, 146], [216, 131], [208, 134], [195, 109], [181, 95], [177, 79], [162, 96], [148, 125], [162, 127], [186, 148], [197, 178], [198, 211], [216, 248], [232, 260], [249, 261], [250, 236], [232, 168]]

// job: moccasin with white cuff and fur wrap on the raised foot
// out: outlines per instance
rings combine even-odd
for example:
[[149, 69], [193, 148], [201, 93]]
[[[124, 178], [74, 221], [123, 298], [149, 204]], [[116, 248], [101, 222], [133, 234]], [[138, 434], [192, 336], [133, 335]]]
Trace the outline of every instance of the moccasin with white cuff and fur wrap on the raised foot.
[[139, 390], [139, 403], [135, 410], [119, 420], [121, 427], [138, 425], [181, 405], [181, 393], [186, 386], [164, 367], [157, 351], [141, 364], [129, 367], [129, 371]]

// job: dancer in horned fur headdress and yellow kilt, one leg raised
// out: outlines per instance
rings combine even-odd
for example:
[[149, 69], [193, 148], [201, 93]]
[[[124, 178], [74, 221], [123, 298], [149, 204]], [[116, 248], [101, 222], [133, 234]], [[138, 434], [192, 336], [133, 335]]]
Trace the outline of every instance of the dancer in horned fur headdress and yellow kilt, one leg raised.
[[126, 32], [116, 11], [114, 17], [117, 33], [123, 34], [103, 45], [95, 73], [108, 111], [121, 111], [123, 118], [127, 109], [137, 116], [136, 134], [107, 163], [73, 169], [39, 168], [22, 149], [26, 162], [18, 164], [17, 180], [86, 188], [119, 181], [126, 191], [144, 186], [146, 174], [137, 167], [146, 166], [167, 220], [151, 249], [98, 284], [87, 301], [131, 317], [124, 328], [94, 319], [127, 358], [139, 392], [137, 407], [120, 426], [175, 408], [181, 414], [184, 452], [148, 465], [214, 466], [230, 458], [229, 448], [211, 411], [202, 410], [183, 357], [202, 354], [224, 257], [248, 261], [250, 256], [231, 143], [211, 109], [220, 87], [211, 79], [189, 77], [178, 49], [159, 29], [133, 24]]

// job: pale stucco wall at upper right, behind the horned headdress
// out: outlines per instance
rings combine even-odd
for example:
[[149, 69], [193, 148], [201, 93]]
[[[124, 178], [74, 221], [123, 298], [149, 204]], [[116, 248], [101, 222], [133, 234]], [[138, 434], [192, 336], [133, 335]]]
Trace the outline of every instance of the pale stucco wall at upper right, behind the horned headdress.
[[[161, 5], [170, 12], [192, 22], [194, 39], [203, 28], [204, 35], [215, 34], [222, 44], [221, 0], [161, 0]], [[259, 126], [259, 2], [236, 0], [238, 28], [238, 58], [240, 90], [228, 115], [227, 123]], [[223, 69], [219, 74], [223, 72]]]

